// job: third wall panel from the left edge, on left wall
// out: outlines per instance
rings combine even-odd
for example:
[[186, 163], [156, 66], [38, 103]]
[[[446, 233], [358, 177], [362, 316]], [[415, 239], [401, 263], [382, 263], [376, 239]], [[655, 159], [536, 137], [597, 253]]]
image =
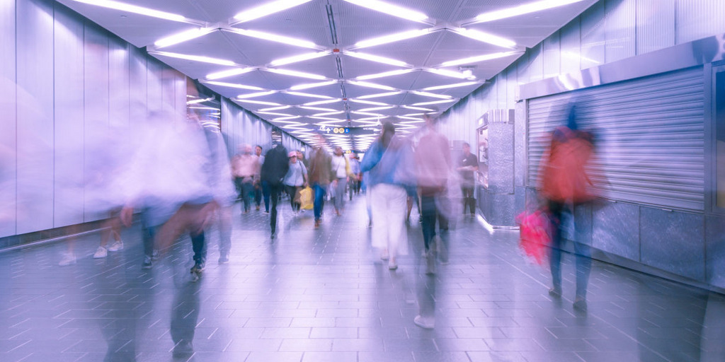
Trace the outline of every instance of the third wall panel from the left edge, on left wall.
[[83, 20], [55, 12], [54, 227], [83, 222]]

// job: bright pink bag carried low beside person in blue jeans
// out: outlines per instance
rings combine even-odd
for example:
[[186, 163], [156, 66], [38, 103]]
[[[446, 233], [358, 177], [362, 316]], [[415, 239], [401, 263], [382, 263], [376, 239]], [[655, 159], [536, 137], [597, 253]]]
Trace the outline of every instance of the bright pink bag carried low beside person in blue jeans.
[[516, 222], [521, 227], [519, 247], [534, 262], [539, 265], [544, 264], [547, 257], [547, 247], [551, 242], [549, 218], [542, 210], [523, 211], [516, 216]]

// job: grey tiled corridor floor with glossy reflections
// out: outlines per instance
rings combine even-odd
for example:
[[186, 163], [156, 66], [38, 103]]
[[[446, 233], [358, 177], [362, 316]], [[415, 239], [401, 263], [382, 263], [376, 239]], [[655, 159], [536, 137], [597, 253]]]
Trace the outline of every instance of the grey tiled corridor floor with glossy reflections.
[[[458, 223], [434, 277], [413, 222], [410, 255], [389, 271], [364, 203], [319, 230], [281, 203], [273, 243], [268, 216], [236, 206], [231, 263], [217, 264], [210, 232], [198, 282], [188, 238], [142, 271], [138, 227], [105, 259], [91, 258], [97, 234], [80, 237], [72, 266], [57, 265], [67, 243], [0, 253], [0, 361], [725, 361], [721, 295], [595, 262], [589, 311], [576, 312], [571, 256], [552, 300], [517, 234], [476, 219]], [[435, 329], [413, 324], [421, 310]], [[175, 358], [183, 339], [193, 352]]]

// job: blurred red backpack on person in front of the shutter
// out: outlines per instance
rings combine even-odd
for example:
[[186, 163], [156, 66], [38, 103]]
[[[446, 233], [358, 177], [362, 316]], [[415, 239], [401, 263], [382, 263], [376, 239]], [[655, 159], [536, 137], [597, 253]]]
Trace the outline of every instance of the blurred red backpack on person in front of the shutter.
[[544, 196], [552, 201], [574, 203], [594, 198], [592, 180], [586, 169], [591, 157], [592, 140], [587, 132], [558, 127], [552, 139], [548, 162], [542, 167]]

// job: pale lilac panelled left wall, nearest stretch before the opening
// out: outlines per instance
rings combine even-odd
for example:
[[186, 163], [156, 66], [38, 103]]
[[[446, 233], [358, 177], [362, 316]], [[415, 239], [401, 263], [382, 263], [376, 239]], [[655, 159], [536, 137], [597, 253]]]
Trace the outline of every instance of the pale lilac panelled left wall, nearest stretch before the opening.
[[96, 175], [101, 141], [186, 114], [184, 75], [55, 1], [1, 1], [0, 54], [0, 237], [107, 217], [86, 186], [113, 177]]

